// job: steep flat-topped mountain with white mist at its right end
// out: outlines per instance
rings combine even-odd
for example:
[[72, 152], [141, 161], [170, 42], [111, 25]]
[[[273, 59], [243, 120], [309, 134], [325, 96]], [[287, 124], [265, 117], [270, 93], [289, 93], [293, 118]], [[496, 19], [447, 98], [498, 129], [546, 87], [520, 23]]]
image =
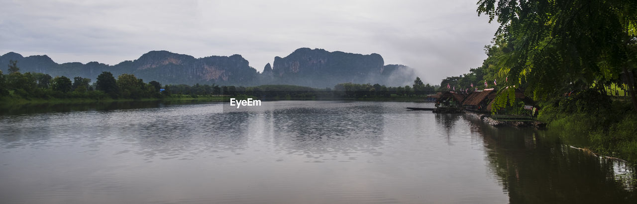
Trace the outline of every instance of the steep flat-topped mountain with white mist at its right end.
[[[264, 74], [269, 74], [268, 68], [269, 64]], [[310, 48], [299, 48], [287, 57], [275, 57], [271, 74], [276, 83], [311, 87], [348, 82], [400, 86], [415, 78], [410, 67], [384, 65], [383, 57], [376, 53], [361, 55]]]

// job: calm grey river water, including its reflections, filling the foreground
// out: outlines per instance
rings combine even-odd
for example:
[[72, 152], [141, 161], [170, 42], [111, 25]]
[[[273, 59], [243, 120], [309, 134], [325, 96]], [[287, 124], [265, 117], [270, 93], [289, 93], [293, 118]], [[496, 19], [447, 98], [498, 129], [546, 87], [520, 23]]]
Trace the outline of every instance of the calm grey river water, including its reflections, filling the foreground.
[[[1, 203], [631, 203], [633, 165], [412, 102], [0, 114]], [[28, 109], [28, 107], [27, 107]]]

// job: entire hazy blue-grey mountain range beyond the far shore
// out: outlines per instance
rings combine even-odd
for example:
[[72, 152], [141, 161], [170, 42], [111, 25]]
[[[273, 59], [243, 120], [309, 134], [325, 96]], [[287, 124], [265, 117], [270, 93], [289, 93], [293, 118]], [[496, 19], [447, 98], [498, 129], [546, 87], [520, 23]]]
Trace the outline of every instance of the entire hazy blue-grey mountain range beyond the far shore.
[[103, 71], [109, 71], [114, 76], [134, 74], [144, 81], [159, 81], [162, 84], [285, 84], [317, 88], [347, 82], [399, 86], [410, 84], [415, 78], [410, 67], [383, 65], [383, 58], [376, 53], [361, 55], [310, 48], [299, 48], [287, 57], [275, 57], [274, 65], [267, 64], [262, 73], [250, 67], [248, 60], [241, 55], [194, 58], [169, 51], [150, 51], [136, 60], [117, 65], [99, 62], [57, 64], [47, 55], [23, 57], [10, 52], [0, 56], [0, 65], [5, 74], [8, 72], [9, 60], [18, 61], [20, 72], [41, 72], [69, 78], [81, 76], [93, 81]]

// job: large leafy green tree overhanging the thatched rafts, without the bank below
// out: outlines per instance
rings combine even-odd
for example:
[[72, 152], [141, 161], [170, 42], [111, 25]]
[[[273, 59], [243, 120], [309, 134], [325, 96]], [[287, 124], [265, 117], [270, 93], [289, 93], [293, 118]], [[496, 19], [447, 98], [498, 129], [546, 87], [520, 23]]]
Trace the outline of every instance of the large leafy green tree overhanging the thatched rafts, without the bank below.
[[477, 11], [500, 24], [494, 42], [507, 86], [546, 99], [623, 82], [637, 110], [637, 1], [479, 0]]

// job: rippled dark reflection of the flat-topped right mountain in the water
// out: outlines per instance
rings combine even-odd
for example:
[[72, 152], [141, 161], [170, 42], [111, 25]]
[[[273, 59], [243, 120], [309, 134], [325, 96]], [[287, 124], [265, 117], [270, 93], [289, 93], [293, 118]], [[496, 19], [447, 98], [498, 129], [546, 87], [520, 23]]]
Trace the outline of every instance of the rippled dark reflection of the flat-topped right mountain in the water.
[[382, 114], [322, 112], [313, 108], [272, 112], [275, 143], [289, 153], [380, 154], [375, 147], [383, 139]]

